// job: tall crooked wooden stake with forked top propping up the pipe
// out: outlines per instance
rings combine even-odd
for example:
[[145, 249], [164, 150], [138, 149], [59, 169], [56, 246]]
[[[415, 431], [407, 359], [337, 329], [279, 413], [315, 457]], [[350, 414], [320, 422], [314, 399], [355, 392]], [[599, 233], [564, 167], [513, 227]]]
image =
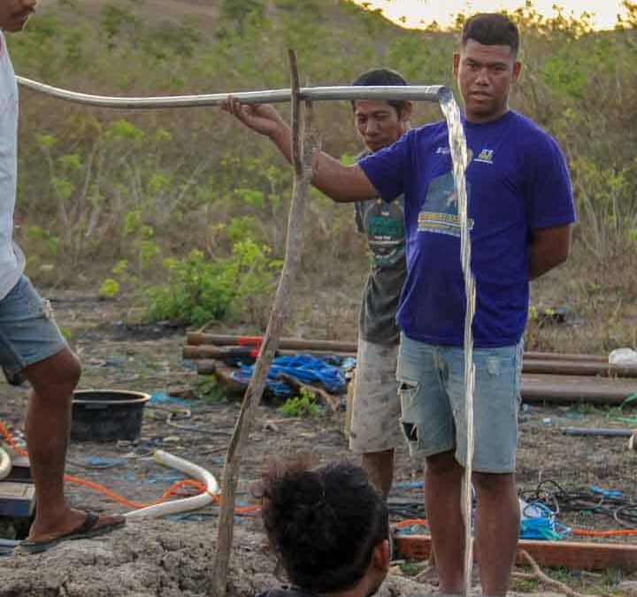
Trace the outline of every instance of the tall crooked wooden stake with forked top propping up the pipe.
[[217, 534], [217, 553], [212, 568], [212, 595], [224, 597], [227, 585], [227, 570], [234, 532], [234, 494], [236, 492], [239, 468], [243, 449], [249, 438], [249, 432], [255, 418], [257, 405], [265, 389], [272, 358], [279, 345], [283, 324], [288, 318], [292, 298], [292, 284], [303, 252], [303, 227], [305, 206], [310, 196], [312, 175], [312, 150], [317, 145], [313, 131], [314, 114], [311, 103], [305, 103], [303, 122], [301, 120], [301, 100], [299, 98], [299, 76], [294, 50], [288, 50], [292, 87], [292, 157], [294, 166], [294, 186], [292, 202], [288, 216], [288, 240], [279, 287], [272, 304], [272, 313], [257, 363], [243, 396], [234, 433], [226, 453], [226, 463], [221, 477], [221, 504], [219, 512], [219, 530]]

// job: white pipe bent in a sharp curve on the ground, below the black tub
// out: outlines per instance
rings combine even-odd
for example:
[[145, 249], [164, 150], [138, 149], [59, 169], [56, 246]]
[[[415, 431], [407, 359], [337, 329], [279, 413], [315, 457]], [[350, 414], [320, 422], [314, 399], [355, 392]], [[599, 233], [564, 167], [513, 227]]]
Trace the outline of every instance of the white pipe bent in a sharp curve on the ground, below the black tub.
[[149, 506], [127, 512], [124, 516], [127, 518], [159, 518], [168, 514], [179, 514], [180, 512], [188, 512], [189, 510], [201, 509], [211, 503], [211, 494], [219, 493], [219, 484], [217, 479], [198, 464], [191, 463], [179, 456], [168, 454], [163, 450], [157, 450], [153, 455], [155, 462], [169, 466], [177, 471], [185, 472], [191, 477], [202, 481], [210, 493], [202, 493], [194, 497], [183, 498], [181, 500], [166, 501], [162, 504]]

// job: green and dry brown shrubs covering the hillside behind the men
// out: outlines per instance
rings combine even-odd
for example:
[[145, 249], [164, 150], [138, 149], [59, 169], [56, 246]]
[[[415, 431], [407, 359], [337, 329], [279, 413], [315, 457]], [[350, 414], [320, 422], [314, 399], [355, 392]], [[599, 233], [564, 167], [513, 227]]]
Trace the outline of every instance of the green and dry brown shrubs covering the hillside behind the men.
[[[533, 318], [529, 347], [637, 343], [637, 4], [627, 6], [622, 27], [604, 33], [586, 19], [514, 14], [525, 71], [511, 103], [562, 144], [580, 218], [570, 262], [533, 286], [534, 304], [568, 307], [577, 325]], [[451, 84], [456, 43], [347, 0], [51, 0], [10, 49], [24, 76], [150, 96], [286, 87], [290, 47], [307, 84], [378, 65]], [[439, 118], [420, 105], [414, 122]], [[321, 104], [319, 128], [327, 151], [357, 153], [347, 103]], [[148, 318], [261, 330], [289, 195], [276, 151], [219, 110], [105, 111], [22, 91], [18, 236], [41, 286], [133, 297]], [[352, 231], [351, 206], [313, 196], [289, 333], [355, 336], [368, 257]]]

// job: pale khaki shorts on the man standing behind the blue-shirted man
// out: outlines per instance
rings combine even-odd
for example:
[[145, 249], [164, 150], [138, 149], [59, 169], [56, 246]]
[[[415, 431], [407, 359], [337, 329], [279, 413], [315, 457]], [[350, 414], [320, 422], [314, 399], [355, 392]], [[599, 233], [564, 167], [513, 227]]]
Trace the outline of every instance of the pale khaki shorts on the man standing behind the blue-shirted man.
[[357, 454], [402, 446], [400, 398], [395, 378], [397, 345], [358, 339], [349, 449]]

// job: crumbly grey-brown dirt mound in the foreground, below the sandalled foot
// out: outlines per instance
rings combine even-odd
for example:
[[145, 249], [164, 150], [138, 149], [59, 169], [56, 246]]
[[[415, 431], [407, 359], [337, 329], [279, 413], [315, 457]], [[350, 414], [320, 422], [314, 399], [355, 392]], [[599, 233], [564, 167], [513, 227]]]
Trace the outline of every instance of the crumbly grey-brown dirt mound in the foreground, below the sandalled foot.
[[[210, 593], [214, 527], [135, 522], [90, 540], [62, 543], [42, 555], [0, 560], [2, 597], [202, 597]], [[234, 594], [254, 595], [276, 580], [261, 538], [238, 541], [230, 573]]]

